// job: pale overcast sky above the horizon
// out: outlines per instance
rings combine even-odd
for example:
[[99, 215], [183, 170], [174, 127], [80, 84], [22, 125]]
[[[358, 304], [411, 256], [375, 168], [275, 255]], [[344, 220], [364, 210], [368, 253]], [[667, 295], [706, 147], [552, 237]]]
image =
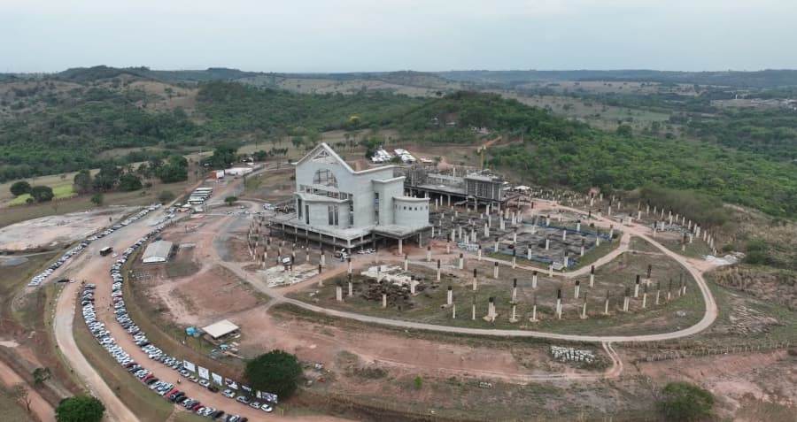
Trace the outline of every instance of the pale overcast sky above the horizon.
[[0, 72], [797, 68], [797, 0], [0, 0]]

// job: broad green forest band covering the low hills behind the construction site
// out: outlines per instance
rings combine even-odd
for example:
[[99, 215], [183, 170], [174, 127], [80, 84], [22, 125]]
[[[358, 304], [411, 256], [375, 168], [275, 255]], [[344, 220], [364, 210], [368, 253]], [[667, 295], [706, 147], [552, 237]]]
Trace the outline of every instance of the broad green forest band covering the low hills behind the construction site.
[[98, 154], [116, 148], [160, 147], [116, 158], [124, 165], [163, 159], [164, 150], [236, 145], [247, 137], [265, 141], [333, 129], [392, 128], [402, 139], [444, 144], [506, 135], [517, 142], [491, 148], [489, 165], [538, 184], [693, 190], [778, 217], [797, 215], [797, 165], [784, 161], [797, 150], [794, 118], [774, 111], [727, 111], [716, 119], [694, 119], [688, 130], [707, 142], [693, 142], [602, 131], [472, 91], [430, 98], [368, 91], [314, 95], [209, 81], [199, 84], [199, 120], [180, 108], [143, 111], [139, 100], [135, 94], [86, 88], [66, 99], [50, 99], [43, 111], [26, 119], [0, 122], [0, 180], [96, 168], [103, 161]]

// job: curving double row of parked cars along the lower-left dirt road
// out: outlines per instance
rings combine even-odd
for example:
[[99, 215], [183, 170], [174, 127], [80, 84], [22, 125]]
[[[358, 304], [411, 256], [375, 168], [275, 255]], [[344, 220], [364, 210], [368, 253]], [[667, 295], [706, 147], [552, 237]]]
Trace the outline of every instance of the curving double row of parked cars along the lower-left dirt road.
[[[143, 352], [147, 354], [147, 357], [154, 361], [158, 361], [161, 364], [165, 364], [185, 377], [187, 380], [196, 382], [202, 387], [207, 388], [208, 391], [217, 393], [219, 392], [218, 387], [213, 386], [208, 380], [198, 379], [195, 375], [184, 369], [182, 359], [170, 357], [166, 355], [163, 350], [151, 344], [147, 339], [146, 334], [144, 334], [143, 331], [135, 325], [133, 319], [130, 318], [125, 306], [123, 297], [124, 294], [122, 292], [122, 283], [124, 282], [124, 277], [121, 274], [121, 267], [127, 262], [128, 256], [132, 254], [135, 249], [140, 248], [151, 238], [151, 236], [158, 234], [161, 230], [163, 230], [163, 228], [163, 224], [156, 226], [155, 229], [153, 229], [149, 234], [143, 236], [130, 248], [125, 249], [121, 257], [112, 265], [111, 298], [113, 313], [116, 316], [116, 320], [120, 323], [120, 326], [122, 326], [128, 332], [128, 334], [133, 336], [135, 345], [140, 347]], [[112, 357], [116, 359], [116, 361], [119, 362], [119, 364], [121, 364], [128, 372], [133, 374], [136, 379], [141, 380], [141, 382], [150, 387], [150, 389], [156, 394], [164, 397], [166, 400], [179, 404], [185, 409], [194, 411], [198, 415], [224, 422], [246, 422], [248, 420], [248, 418], [239, 415], [225, 414], [223, 410], [217, 410], [212, 407], [205, 406], [198, 400], [190, 398], [184, 391], [181, 391], [179, 388], [175, 387], [174, 384], [156, 378], [151, 371], [144, 367], [143, 364], [135, 362], [132, 357], [130, 357], [130, 355], [116, 343], [116, 340], [113, 339], [110, 332], [105, 329], [104, 323], [97, 320], [97, 313], [94, 308], [95, 288], [96, 285], [94, 284], [86, 284], [83, 286], [83, 290], [81, 291], [81, 305], [83, 306], [83, 318], [86, 321], [86, 325], [89, 326], [89, 330], [95, 336], [97, 341], [104, 347], [104, 349], [106, 349], [112, 355]], [[224, 390], [222, 395], [228, 398], [236, 397], [236, 394], [231, 389]], [[266, 412], [271, 412], [274, 410], [274, 407], [271, 403], [251, 402], [251, 400], [244, 395], [236, 397], [236, 401]]]

